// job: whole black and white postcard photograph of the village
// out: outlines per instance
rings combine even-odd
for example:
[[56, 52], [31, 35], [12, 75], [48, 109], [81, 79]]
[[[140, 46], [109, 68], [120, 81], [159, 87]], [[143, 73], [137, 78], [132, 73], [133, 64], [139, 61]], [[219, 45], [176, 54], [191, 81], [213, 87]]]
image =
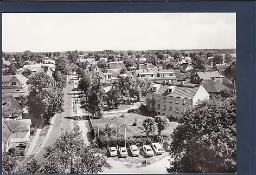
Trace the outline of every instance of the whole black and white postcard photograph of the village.
[[236, 173], [236, 13], [2, 13], [3, 174]]

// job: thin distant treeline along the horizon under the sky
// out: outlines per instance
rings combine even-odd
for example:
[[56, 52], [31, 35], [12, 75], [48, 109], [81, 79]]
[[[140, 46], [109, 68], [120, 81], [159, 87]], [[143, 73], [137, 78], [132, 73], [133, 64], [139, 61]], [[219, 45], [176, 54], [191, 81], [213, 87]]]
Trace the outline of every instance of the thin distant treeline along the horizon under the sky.
[[[158, 55], [159, 52], [162, 52], [164, 54], [169, 54], [169, 55], [174, 55], [174, 53], [181, 53], [181, 52], [199, 52], [199, 51], [204, 51], [204, 52], [213, 52], [215, 54], [220, 53], [220, 54], [227, 54], [227, 53], [236, 53], [236, 49], [185, 49], [185, 50], [173, 50], [173, 49], [164, 49], [164, 50], [141, 50], [141, 51], [134, 51], [134, 50], [102, 50], [102, 51], [79, 51], [80, 55], [83, 55], [85, 53], [99, 53], [101, 55], [110, 55], [110, 54], [116, 54], [120, 55], [121, 52], [126, 52], [127, 55], [135, 55], [135, 54], [142, 54], [142, 55]], [[59, 51], [57, 51], [59, 52]], [[68, 51], [61, 51], [61, 52], [68, 52]], [[5, 52], [5, 53], [23, 53], [23, 52]], [[54, 52], [34, 52], [34, 53], [41, 53], [42, 55], [48, 55], [45, 53], [54, 53]], [[60, 53], [60, 52], [59, 52]], [[3, 57], [3, 55], [2, 55]]]

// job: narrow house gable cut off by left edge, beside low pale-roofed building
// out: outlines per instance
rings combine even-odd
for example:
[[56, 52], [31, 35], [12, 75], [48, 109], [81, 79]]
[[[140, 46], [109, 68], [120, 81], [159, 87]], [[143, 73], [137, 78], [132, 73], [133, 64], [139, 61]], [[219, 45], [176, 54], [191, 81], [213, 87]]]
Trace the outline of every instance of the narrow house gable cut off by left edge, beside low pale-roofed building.
[[11, 145], [11, 131], [2, 118], [2, 152], [8, 152]]

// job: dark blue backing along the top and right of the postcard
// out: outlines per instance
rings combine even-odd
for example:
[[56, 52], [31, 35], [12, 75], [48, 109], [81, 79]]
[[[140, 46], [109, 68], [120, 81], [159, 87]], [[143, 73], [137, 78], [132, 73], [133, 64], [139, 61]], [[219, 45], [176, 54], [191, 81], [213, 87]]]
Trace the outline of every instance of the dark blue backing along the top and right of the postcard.
[[0, 5], [2, 12], [236, 12], [237, 173], [256, 174], [255, 2], [1, 2]]

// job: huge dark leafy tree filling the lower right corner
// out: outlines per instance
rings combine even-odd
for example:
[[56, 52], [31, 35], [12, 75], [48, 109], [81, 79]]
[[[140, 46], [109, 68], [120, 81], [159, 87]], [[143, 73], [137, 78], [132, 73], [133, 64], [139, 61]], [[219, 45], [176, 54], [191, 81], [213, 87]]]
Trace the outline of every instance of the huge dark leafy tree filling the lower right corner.
[[169, 173], [236, 172], [236, 99], [183, 109], [173, 132]]

